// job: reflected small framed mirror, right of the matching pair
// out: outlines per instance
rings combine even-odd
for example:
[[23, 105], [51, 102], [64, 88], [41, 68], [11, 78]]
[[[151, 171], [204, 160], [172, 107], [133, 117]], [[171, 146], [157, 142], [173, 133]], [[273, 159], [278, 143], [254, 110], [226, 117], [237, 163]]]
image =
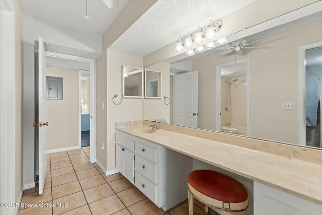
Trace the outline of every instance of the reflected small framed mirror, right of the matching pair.
[[145, 98], [160, 99], [161, 98], [161, 72], [145, 69]]

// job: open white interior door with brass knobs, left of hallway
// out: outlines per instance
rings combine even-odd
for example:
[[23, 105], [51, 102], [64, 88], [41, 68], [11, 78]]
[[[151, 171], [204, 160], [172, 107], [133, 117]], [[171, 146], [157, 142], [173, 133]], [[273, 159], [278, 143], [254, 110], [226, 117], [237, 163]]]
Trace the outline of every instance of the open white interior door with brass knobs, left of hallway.
[[[39, 194], [43, 193], [46, 173], [47, 173], [47, 135], [46, 127], [47, 122], [47, 110], [46, 110], [46, 50], [42, 38], [39, 38], [38, 46], [38, 80], [36, 78], [36, 90], [38, 90], [38, 154], [39, 154]], [[38, 84], [38, 86], [37, 86]]]

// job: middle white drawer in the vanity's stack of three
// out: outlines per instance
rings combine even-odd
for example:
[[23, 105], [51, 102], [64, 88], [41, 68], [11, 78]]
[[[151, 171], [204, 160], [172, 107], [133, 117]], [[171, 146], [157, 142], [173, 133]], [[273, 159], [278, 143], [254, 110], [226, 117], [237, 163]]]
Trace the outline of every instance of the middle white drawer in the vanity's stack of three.
[[135, 171], [139, 172], [142, 176], [144, 176], [154, 184], [157, 182], [156, 165], [138, 155], [135, 156]]

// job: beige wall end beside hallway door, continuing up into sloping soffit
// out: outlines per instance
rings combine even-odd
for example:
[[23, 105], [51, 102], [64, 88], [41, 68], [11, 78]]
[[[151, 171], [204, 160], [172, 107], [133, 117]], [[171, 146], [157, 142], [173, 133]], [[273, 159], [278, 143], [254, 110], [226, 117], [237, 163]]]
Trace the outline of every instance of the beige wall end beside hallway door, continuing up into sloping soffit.
[[[103, 52], [96, 59], [96, 160], [107, 168], [107, 64], [106, 49], [112, 45], [137, 19], [139, 19], [156, 0], [131, 0], [103, 34]], [[120, 79], [120, 77], [119, 77]], [[104, 109], [102, 108], [104, 103]]]

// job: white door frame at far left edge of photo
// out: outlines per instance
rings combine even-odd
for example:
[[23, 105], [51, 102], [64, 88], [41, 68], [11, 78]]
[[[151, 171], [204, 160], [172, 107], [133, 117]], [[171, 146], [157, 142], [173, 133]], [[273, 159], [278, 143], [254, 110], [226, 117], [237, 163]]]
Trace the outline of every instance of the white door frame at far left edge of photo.
[[[0, 202], [16, 202], [16, 32], [11, 0], [0, 0]], [[19, 201], [19, 199], [18, 199]], [[17, 208], [0, 207], [0, 214]], [[18, 208], [19, 209], [19, 208]]]

